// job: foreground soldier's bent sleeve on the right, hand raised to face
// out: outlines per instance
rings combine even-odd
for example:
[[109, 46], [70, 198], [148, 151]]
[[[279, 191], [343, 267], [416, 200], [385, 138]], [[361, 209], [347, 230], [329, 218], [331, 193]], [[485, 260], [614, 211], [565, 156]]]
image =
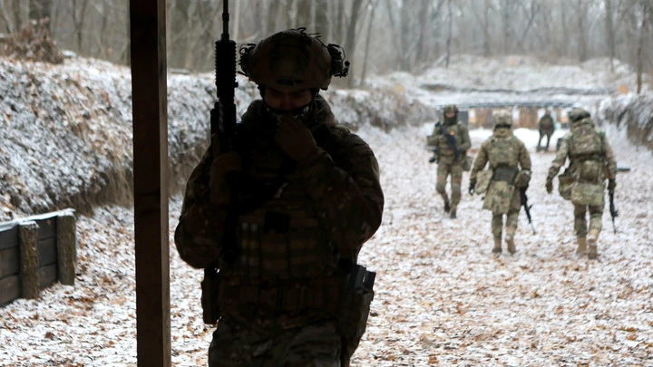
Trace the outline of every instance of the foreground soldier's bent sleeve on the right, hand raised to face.
[[341, 255], [356, 258], [361, 246], [381, 225], [384, 195], [373, 151], [356, 134], [347, 134], [338, 146], [336, 164], [321, 150], [297, 169], [307, 183], [321, 225], [333, 236]]

